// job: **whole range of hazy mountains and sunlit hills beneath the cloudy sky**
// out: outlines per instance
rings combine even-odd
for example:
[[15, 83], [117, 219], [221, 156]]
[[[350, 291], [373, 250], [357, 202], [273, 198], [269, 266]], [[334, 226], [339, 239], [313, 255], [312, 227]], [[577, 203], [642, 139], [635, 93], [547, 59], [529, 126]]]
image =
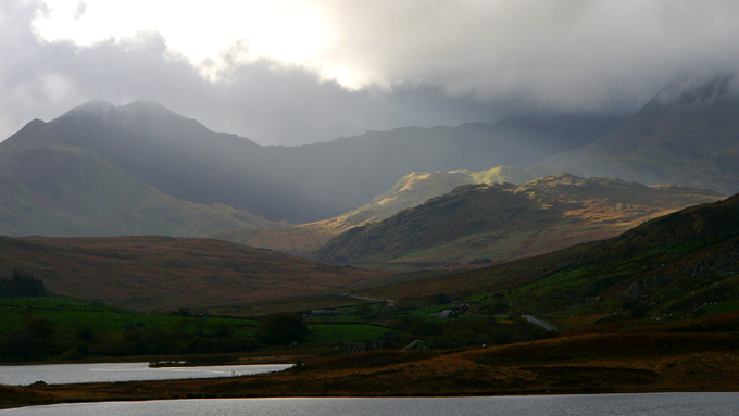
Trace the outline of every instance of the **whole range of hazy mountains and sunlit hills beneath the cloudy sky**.
[[214, 236], [362, 266], [534, 255], [721, 198], [559, 172], [736, 191], [732, 83], [671, 84], [623, 122], [511, 117], [292, 148], [151, 102], [90, 102], [0, 143], [0, 232]]

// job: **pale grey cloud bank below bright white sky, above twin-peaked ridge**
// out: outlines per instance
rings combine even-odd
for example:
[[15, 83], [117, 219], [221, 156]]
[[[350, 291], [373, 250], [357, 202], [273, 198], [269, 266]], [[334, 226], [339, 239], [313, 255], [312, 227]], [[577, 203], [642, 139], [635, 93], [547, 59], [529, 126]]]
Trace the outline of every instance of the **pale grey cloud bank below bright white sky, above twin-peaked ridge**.
[[[8, 4], [15, 4], [11, 7]], [[350, 91], [314, 72], [270, 60], [222, 68], [217, 81], [186, 56], [173, 54], [155, 31], [79, 47], [46, 42], [29, 29], [37, 3], [4, 3], [0, 52], [0, 134], [39, 117], [54, 118], [88, 100], [114, 104], [145, 99], [196, 118], [209, 128], [261, 143], [300, 144], [406, 125], [459, 124], [494, 117], [465, 98], [435, 89]], [[12, 18], [11, 18], [12, 17]], [[12, 22], [12, 23], [11, 23]], [[224, 52], [239, 53], [238, 49]]]

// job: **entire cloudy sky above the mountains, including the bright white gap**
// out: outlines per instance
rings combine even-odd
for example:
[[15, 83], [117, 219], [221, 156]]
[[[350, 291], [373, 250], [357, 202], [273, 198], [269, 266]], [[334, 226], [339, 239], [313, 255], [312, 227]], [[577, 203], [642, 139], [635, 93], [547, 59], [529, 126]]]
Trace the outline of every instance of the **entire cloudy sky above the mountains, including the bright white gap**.
[[738, 25], [735, 0], [0, 0], [0, 140], [90, 100], [284, 146], [629, 113], [734, 73]]

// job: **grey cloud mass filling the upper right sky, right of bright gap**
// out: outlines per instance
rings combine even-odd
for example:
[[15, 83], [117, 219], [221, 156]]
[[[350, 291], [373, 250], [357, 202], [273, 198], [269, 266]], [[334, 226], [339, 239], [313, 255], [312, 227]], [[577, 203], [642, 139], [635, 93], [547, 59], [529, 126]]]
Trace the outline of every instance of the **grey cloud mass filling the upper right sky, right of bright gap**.
[[341, 61], [380, 85], [431, 84], [479, 100], [608, 110], [643, 102], [676, 73], [739, 63], [735, 1], [418, 0], [358, 9], [331, 4]]

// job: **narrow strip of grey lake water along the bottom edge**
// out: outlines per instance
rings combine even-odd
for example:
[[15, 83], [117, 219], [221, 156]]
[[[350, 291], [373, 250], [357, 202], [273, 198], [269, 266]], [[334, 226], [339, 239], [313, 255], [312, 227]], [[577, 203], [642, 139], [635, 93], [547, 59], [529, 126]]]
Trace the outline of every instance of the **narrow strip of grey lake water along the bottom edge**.
[[596, 394], [434, 399], [213, 399], [62, 404], [0, 411], [0, 416], [726, 416], [739, 393]]

